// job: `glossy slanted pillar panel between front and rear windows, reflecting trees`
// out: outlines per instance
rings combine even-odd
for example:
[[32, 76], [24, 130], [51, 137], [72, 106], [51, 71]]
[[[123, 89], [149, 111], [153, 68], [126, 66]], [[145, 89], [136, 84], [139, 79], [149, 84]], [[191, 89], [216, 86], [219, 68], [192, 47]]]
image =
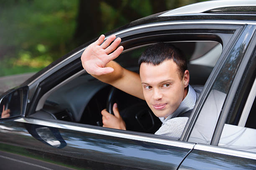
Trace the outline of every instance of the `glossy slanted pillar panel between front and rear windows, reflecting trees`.
[[[250, 30], [251, 27], [248, 29]], [[245, 31], [230, 51], [200, 111], [189, 142], [210, 144], [224, 101], [250, 40], [250, 38], [245, 38], [247, 34], [248, 32]]]

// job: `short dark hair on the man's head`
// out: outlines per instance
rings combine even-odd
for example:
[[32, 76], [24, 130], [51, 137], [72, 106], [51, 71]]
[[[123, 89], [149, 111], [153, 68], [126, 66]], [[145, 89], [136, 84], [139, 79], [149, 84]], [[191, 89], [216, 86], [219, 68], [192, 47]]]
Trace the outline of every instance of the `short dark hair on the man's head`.
[[184, 72], [187, 70], [187, 58], [175, 46], [170, 43], [157, 43], [149, 46], [139, 58], [139, 66], [141, 63], [150, 63], [157, 66], [165, 60], [172, 59], [177, 64], [178, 74], [183, 79]]

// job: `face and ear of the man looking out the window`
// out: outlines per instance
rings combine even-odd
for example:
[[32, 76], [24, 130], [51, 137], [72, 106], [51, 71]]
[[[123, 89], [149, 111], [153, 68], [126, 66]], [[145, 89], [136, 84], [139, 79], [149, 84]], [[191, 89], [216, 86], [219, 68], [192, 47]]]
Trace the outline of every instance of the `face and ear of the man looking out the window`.
[[185, 71], [181, 80], [177, 64], [171, 59], [157, 66], [142, 63], [140, 77], [145, 100], [157, 117], [172, 114], [187, 95], [189, 73]]

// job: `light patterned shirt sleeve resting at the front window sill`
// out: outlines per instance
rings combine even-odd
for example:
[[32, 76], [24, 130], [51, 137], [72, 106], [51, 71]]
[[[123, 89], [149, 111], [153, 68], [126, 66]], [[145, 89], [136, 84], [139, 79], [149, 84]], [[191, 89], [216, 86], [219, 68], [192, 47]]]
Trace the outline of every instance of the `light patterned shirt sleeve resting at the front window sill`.
[[188, 119], [188, 117], [175, 117], [169, 119], [162, 124], [155, 134], [170, 137], [181, 137]]

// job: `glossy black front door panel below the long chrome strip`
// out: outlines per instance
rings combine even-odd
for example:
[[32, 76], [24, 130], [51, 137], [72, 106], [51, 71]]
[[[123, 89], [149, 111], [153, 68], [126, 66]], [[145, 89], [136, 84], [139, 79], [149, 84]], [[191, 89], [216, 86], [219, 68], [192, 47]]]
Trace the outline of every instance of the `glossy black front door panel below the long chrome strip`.
[[[177, 169], [180, 162], [191, 150], [41, 125], [39, 128], [54, 129], [51, 132], [54, 132], [56, 138], [59, 138], [59, 134], [61, 135], [63, 141], [59, 141], [65, 142], [66, 145], [62, 144], [62, 147], [58, 148], [47, 145], [41, 140], [44, 139], [44, 135], [49, 138], [49, 134], [36, 137], [36, 135], [29, 133], [38, 125], [17, 121], [1, 122], [0, 124], [0, 138], [2, 139], [0, 150], [10, 152], [6, 150], [10, 147], [12, 148], [11, 152], [15, 154], [28, 157], [35, 157], [36, 155], [36, 159], [75, 169], [92, 167], [94, 167], [93, 169], [95, 167], [98, 169], [122, 169], [123, 167], [125, 169]], [[29, 131], [28, 128], [30, 128]]]

